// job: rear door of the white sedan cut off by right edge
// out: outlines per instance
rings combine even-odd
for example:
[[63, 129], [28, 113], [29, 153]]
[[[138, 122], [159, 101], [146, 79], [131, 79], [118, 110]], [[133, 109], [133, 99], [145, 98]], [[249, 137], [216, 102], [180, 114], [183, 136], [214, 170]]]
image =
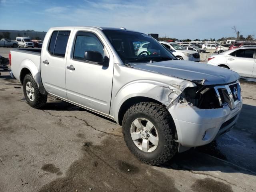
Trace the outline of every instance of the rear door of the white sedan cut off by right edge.
[[230, 69], [241, 76], [252, 76], [255, 61], [255, 49], [240, 49], [227, 56], [227, 64]]

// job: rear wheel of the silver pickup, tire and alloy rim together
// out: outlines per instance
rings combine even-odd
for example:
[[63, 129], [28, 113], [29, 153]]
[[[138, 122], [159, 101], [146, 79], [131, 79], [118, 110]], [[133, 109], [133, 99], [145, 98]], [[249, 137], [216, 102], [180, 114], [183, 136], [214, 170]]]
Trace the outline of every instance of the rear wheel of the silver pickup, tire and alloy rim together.
[[41, 108], [46, 104], [47, 94], [41, 94], [32, 74], [26, 74], [23, 80], [23, 92], [26, 101], [33, 108]]

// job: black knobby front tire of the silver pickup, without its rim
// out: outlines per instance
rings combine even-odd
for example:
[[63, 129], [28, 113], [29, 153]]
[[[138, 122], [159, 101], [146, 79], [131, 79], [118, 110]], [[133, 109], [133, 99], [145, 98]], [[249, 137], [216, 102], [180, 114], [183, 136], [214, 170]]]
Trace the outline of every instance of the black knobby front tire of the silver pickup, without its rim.
[[[146, 118], [154, 124], [158, 132], [158, 146], [152, 152], [140, 150], [133, 142], [130, 128], [137, 118]], [[160, 104], [153, 102], [140, 102], [131, 106], [122, 121], [122, 132], [126, 145], [139, 160], [150, 165], [160, 165], [170, 160], [177, 152], [174, 141], [176, 128], [170, 113]]]

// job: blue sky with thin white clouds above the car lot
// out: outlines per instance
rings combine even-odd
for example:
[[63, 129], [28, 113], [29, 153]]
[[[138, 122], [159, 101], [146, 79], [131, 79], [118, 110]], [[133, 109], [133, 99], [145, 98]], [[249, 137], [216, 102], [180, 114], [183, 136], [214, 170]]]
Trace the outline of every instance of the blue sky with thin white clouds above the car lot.
[[0, 0], [0, 29], [125, 27], [160, 37], [256, 38], [256, 0]]

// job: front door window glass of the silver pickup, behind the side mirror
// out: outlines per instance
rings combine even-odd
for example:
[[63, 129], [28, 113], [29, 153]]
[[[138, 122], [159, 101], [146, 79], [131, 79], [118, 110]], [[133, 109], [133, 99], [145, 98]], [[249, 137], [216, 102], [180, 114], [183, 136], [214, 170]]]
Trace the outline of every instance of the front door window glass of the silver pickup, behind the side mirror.
[[84, 60], [84, 52], [86, 51], [97, 51], [103, 56], [104, 46], [95, 34], [90, 32], [78, 32], [76, 34], [73, 58]]

